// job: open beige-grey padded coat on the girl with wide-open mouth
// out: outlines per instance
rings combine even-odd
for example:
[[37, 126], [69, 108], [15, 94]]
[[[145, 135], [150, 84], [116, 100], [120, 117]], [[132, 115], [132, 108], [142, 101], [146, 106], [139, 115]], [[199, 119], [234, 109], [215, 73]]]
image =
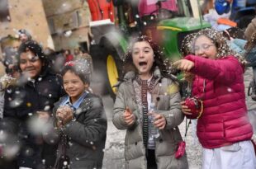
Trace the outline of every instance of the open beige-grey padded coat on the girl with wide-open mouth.
[[[154, 71], [154, 77], [157, 78], [152, 98], [156, 105], [157, 111], [164, 115], [166, 126], [159, 130], [160, 136], [155, 139], [155, 158], [159, 169], [186, 169], [187, 155], [176, 159], [174, 154], [178, 148], [178, 143], [183, 140], [178, 125], [182, 123], [184, 115], [181, 112], [181, 96], [178, 85], [172, 80], [162, 77], [157, 68]], [[121, 82], [116, 95], [114, 105], [113, 124], [117, 129], [126, 129], [125, 138], [125, 158], [127, 169], [146, 169], [146, 150], [143, 143], [142, 125], [140, 124], [140, 107], [135, 101], [135, 87], [133, 80], [135, 73], [126, 73], [125, 82]], [[136, 117], [135, 124], [126, 124], [123, 113], [126, 107]]]

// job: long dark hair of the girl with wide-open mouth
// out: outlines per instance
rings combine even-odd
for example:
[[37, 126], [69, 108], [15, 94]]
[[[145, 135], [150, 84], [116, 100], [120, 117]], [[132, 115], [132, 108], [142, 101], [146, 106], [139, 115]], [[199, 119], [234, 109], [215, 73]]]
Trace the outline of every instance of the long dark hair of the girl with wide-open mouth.
[[136, 42], [142, 42], [142, 41], [148, 42], [154, 52], [154, 63], [152, 65], [151, 72], [154, 72], [154, 69], [156, 67], [159, 67], [159, 70], [162, 76], [168, 77], [168, 73], [170, 73], [170, 68], [168, 67], [168, 60], [164, 60], [163, 50], [148, 36], [140, 35], [138, 37], [135, 37], [133, 40], [131, 40], [130, 46], [127, 49], [127, 52], [125, 54], [125, 60], [124, 60], [121, 78], [123, 78], [126, 75], [126, 73], [130, 71], [138, 73], [138, 70], [135, 68], [135, 65], [132, 61], [132, 49]]

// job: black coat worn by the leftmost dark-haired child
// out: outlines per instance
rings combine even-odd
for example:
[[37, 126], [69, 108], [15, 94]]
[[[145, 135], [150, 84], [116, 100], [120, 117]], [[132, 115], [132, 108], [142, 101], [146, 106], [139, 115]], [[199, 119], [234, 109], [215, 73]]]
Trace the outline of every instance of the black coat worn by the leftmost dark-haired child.
[[54, 148], [43, 148], [46, 145], [40, 134], [32, 134], [28, 122], [36, 116], [36, 111], [51, 112], [54, 103], [63, 95], [61, 77], [47, 72], [40, 74], [35, 82], [21, 83], [19, 86], [9, 87], [5, 92], [1, 129], [16, 134], [21, 141], [18, 166], [36, 168], [42, 159], [45, 159], [46, 165], [55, 162], [52, 152]]

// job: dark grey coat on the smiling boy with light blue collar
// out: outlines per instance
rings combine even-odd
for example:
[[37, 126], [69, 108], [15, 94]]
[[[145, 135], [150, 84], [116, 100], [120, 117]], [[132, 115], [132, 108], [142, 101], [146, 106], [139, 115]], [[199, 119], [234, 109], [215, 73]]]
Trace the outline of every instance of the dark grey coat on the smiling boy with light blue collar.
[[[54, 116], [61, 102], [61, 98], [54, 108]], [[61, 134], [68, 137], [66, 155], [70, 158], [72, 169], [102, 168], [102, 160], [107, 136], [107, 118], [102, 105], [102, 99], [88, 93], [81, 105], [75, 110], [74, 117], [63, 130], [50, 129], [44, 134], [45, 141], [59, 143], [57, 158], [62, 153]], [[53, 127], [55, 120], [53, 120]]]

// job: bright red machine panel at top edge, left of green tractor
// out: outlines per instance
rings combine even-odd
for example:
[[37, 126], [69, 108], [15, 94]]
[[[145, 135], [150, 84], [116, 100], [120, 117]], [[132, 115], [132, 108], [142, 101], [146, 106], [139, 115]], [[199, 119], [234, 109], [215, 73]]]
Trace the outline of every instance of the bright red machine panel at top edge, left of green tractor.
[[113, 2], [107, 0], [88, 0], [88, 6], [92, 15], [92, 21], [110, 19], [114, 21], [114, 6]]

